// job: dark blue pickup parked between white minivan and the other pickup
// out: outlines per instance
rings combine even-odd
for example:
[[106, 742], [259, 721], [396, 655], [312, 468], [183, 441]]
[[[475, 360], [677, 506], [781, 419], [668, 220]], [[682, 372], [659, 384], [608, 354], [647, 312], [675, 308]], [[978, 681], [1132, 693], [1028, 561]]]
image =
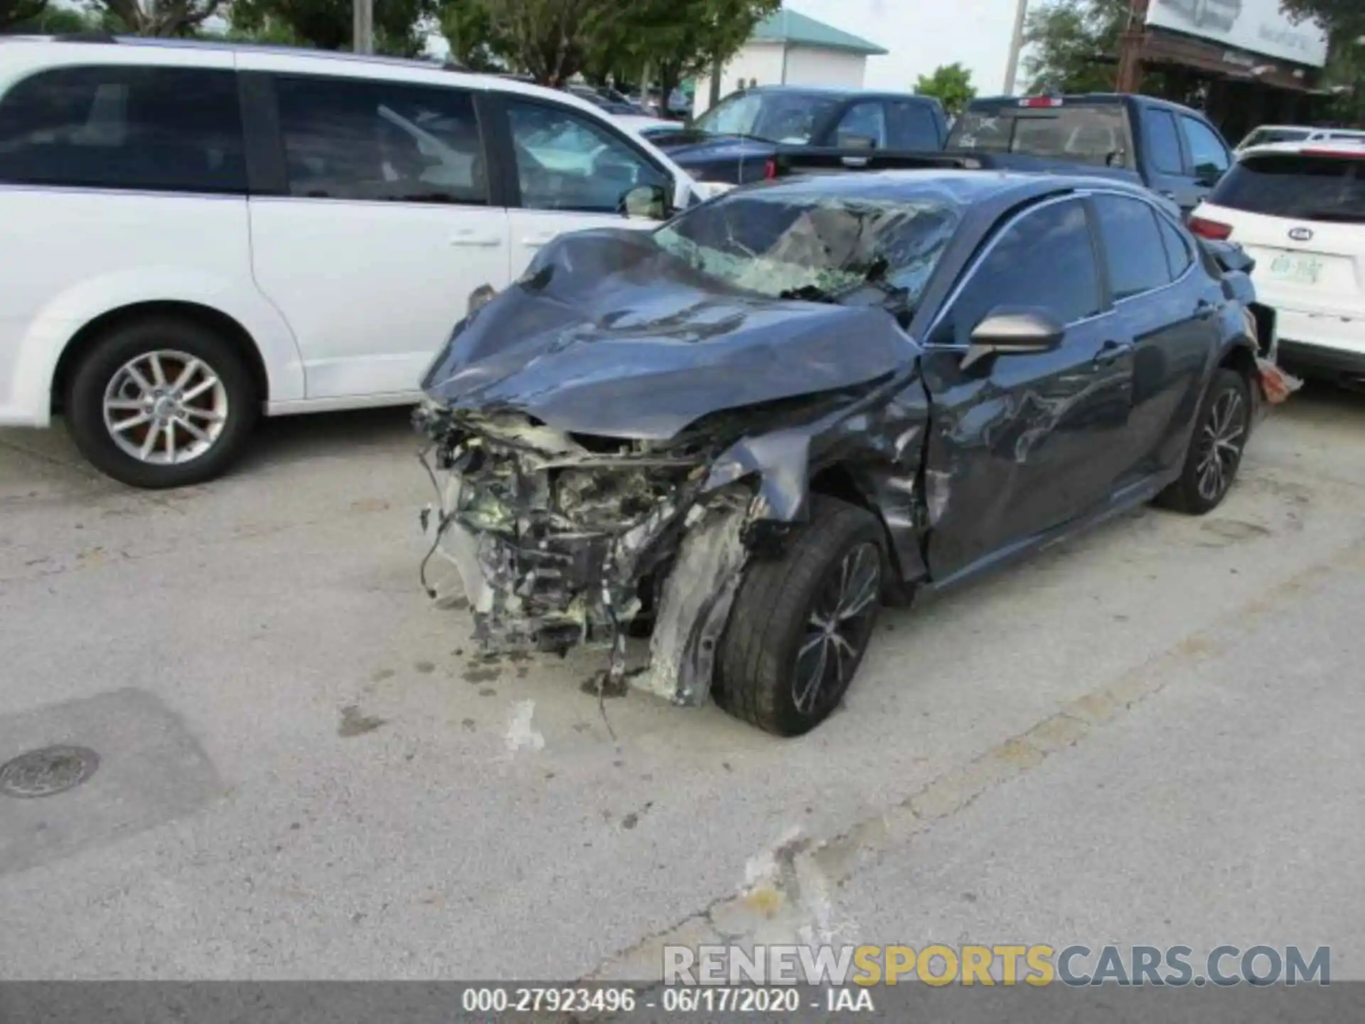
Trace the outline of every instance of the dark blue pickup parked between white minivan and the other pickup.
[[732, 93], [685, 128], [654, 137], [698, 180], [733, 184], [763, 180], [768, 161], [784, 147], [940, 150], [946, 138], [938, 100], [804, 86]]

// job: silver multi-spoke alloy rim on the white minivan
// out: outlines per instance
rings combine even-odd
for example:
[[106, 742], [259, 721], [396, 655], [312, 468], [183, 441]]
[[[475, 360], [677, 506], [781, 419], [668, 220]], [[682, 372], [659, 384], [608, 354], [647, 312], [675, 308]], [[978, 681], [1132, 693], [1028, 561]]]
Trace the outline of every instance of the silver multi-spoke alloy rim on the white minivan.
[[228, 389], [202, 359], [175, 350], [141, 352], [109, 378], [104, 425], [126, 455], [158, 466], [198, 459], [228, 422]]

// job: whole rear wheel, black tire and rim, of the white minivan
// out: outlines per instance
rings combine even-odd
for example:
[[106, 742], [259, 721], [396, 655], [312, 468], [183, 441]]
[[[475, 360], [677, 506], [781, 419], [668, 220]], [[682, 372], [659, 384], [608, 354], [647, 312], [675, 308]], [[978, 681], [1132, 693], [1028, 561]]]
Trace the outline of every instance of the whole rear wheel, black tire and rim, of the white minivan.
[[[147, 392], [126, 371], [130, 365], [142, 381], [156, 388], [153, 393], [168, 392], [165, 400], [172, 404], [149, 404], [139, 411]], [[153, 378], [149, 366], [161, 367], [162, 381]], [[191, 367], [192, 374], [180, 392], [187, 400], [175, 404], [171, 389]], [[117, 395], [111, 395], [116, 377], [123, 385]], [[115, 426], [145, 419], [154, 411], [165, 411], [168, 419], [153, 416], [150, 423], [117, 431], [120, 444], [106, 400], [121, 406]], [[184, 487], [218, 477], [242, 453], [259, 415], [259, 396], [240, 352], [221, 335], [179, 317], [147, 317], [116, 326], [90, 345], [71, 375], [66, 415], [76, 448], [105, 475], [132, 487]], [[190, 433], [191, 429], [197, 433]], [[149, 457], [127, 451], [130, 445], [141, 448], [154, 430], [160, 433]], [[172, 431], [168, 444], [179, 461], [167, 460], [168, 430]], [[195, 448], [202, 451], [192, 453]]]

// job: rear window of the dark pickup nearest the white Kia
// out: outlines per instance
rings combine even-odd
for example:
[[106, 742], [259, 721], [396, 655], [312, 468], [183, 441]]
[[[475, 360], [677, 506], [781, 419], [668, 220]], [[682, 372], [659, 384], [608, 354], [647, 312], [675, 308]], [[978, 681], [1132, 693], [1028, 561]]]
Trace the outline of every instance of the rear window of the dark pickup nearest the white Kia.
[[1118, 104], [968, 109], [953, 126], [950, 150], [1018, 153], [1099, 167], [1127, 167], [1127, 127]]

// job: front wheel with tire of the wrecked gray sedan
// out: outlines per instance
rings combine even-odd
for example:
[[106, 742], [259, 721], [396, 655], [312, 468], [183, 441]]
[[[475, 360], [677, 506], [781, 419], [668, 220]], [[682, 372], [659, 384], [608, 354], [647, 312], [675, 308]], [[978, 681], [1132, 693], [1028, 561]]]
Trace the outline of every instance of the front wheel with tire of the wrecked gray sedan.
[[745, 572], [721, 638], [717, 703], [778, 736], [829, 718], [872, 638], [886, 567], [880, 523], [816, 496], [784, 557]]

